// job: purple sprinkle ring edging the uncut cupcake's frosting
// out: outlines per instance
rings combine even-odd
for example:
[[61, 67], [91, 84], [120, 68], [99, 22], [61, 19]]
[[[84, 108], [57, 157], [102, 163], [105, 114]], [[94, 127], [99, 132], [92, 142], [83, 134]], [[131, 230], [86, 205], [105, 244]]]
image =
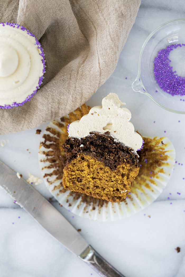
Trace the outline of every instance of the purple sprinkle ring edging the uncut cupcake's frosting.
[[[9, 23], [9, 22], [1, 22], [0, 24], [2, 24], [2, 26], [4, 27], [5, 24], [6, 25], [9, 25], [13, 28], [17, 28], [19, 29], [20, 25], [17, 24], [17, 23]], [[34, 34], [32, 34], [28, 29], [26, 29], [25, 27], [21, 26], [21, 30], [22, 31], [27, 31], [27, 34], [30, 35], [31, 37], [34, 37], [35, 40], [36, 40], [36, 43], [35, 45], [37, 45], [37, 48], [40, 49], [41, 53], [39, 53], [40, 56], [43, 57], [42, 59], [42, 64], [43, 64], [43, 70], [42, 70], [42, 73], [44, 74], [45, 73], [45, 61], [44, 61], [44, 50], [40, 44], [40, 42], [38, 41], [38, 39], [36, 39], [36, 37], [34, 36]], [[28, 97], [21, 103], [16, 103], [16, 102], [13, 102], [11, 105], [5, 105], [5, 106], [0, 106], [1, 109], [11, 109], [13, 107], [17, 107], [17, 106], [22, 106], [24, 103], [26, 103], [27, 101], [30, 101], [30, 99], [36, 94], [37, 92], [37, 89], [39, 88], [39, 86], [42, 84], [42, 79], [43, 79], [43, 75], [39, 78], [39, 83], [38, 83], [38, 86], [36, 86], [36, 89], [33, 91], [33, 93], [31, 95], [28, 95]]]

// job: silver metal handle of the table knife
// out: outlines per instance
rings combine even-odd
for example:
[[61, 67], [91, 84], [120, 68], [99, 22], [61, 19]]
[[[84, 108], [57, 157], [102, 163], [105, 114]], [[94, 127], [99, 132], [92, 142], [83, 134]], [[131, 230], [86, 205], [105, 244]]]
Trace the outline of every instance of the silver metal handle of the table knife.
[[78, 257], [85, 261], [101, 277], [125, 277], [104, 260], [90, 245]]

